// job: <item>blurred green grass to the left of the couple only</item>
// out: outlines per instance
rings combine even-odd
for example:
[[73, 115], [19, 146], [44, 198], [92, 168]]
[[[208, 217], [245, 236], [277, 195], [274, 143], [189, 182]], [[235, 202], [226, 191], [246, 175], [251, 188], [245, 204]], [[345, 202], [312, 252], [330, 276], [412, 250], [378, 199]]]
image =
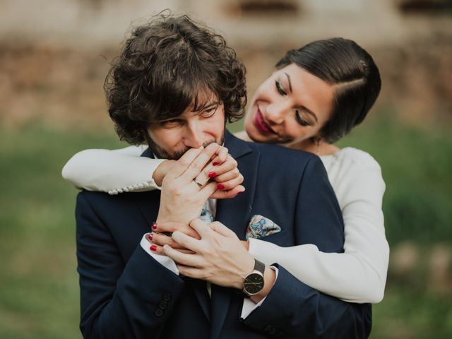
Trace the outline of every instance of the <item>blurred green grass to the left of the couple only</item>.
[[113, 133], [30, 124], [0, 131], [0, 338], [81, 338], [73, 210], [61, 167]]

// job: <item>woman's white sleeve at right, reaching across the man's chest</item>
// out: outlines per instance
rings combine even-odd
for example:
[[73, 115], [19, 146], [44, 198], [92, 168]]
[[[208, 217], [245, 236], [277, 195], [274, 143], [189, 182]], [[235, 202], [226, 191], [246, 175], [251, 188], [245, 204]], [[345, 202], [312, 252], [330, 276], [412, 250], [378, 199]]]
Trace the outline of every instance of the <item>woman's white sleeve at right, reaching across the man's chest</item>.
[[377, 303], [383, 299], [389, 258], [381, 210], [385, 184], [375, 160], [343, 170], [335, 193], [344, 218], [344, 253], [323, 253], [313, 244], [280, 247], [258, 239], [250, 239], [249, 253], [267, 265], [279, 263], [333, 297]]

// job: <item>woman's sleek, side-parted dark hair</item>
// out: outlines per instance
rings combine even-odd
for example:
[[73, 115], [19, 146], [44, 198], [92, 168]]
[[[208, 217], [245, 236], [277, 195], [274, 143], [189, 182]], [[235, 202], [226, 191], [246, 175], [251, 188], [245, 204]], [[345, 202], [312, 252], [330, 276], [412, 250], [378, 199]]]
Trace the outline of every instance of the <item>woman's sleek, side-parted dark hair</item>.
[[311, 42], [287, 52], [276, 68], [290, 64], [334, 87], [333, 112], [320, 131], [328, 143], [338, 141], [361, 123], [379, 96], [379, 69], [369, 53], [352, 40], [335, 37]]

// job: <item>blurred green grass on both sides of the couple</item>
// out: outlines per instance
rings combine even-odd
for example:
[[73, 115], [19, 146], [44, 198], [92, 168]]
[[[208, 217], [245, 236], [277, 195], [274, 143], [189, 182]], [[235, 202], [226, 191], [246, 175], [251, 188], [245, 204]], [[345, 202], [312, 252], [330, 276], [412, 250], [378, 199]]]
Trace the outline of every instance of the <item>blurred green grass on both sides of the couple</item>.
[[[384, 117], [340, 145], [374, 155], [383, 169], [391, 244], [452, 239], [450, 131]], [[0, 338], [81, 338], [73, 218], [76, 190], [61, 167], [83, 148], [117, 148], [113, 131], [0, 127]], [[447, 240], [448, 239], [448, 240]], [[420, 277], [419, 280], [422, 280]], [[372, 338], [452, 338], [451, 297], [389, 283], [374, 307]]]

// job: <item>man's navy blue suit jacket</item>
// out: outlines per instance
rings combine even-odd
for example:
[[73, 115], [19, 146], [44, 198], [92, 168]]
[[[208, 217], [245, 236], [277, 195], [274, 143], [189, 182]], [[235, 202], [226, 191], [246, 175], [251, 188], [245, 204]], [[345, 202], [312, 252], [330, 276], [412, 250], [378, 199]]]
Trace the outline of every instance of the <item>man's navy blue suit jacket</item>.
[[[244, 239], [252, 215], [281, 232], [262, 239], [280, 246], [316, 244], [343, 251], [343, 220], [319, 157], [246, 143], [225, 145], [244, 175], [244, 194], [218, 201], [216, 220]], [[180, 277], [140, 246], [157, 218], [160, 191], [78, 195], [77, 258], [81, 331], [85, 338], [367, 338], [371, 306], [323, 295], [283, 266], [261, 307], [240, 319], [237, 290]], [[293, 258], [303, 264], [303, 258]]]

